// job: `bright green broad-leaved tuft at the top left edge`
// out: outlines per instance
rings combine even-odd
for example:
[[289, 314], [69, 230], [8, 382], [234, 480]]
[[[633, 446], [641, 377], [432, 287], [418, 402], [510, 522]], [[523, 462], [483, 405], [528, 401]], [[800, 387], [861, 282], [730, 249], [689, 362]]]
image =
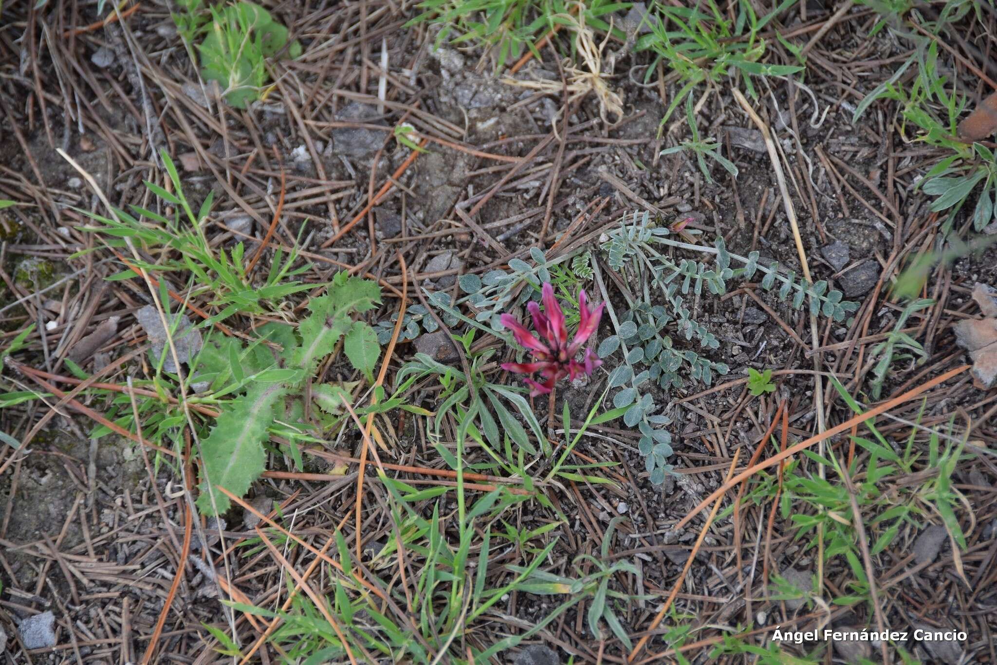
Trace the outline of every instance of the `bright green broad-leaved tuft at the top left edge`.
[[188, 53], [200, 40], [200, 75], [216, 81], [225, 101], [236, 109], [260, 98], [269, 80], [265, 59], [285, 52], [289, 58], [301, 55], [301, 44], [288, 44], [287, 28], [273, 20], [259, 5], [239, 0], [224, 7], [207, 6], [204, 0], [178, 0], [180, 10], [173, 22]]

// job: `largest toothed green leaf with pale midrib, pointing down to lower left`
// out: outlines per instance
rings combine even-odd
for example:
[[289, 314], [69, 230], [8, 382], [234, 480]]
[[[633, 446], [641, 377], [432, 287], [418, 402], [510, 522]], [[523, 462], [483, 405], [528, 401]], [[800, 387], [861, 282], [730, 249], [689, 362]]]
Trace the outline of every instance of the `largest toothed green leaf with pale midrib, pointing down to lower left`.
[[[273, 422], [274, 406], [285, 392], [279, 384], [259, 386], [222, 408], [211, 433], [200, 442], [203, 480], [197, 507], [202, 514], [213, 515], [228, 509], [228, 497], [217, 487], [242, 497], [263, 473], [266, 428]], [[213, 503], [207, 483], [213, 488]]]

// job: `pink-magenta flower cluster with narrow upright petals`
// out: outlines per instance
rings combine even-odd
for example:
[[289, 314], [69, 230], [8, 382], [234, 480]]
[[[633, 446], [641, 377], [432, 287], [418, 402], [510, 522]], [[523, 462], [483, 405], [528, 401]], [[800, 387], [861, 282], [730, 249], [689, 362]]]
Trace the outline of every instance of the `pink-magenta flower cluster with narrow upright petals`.
[[567, 329], [564, 327], [564, 313], [554, 298], [553, 286], [544, 283], [540, 296], [543, 301], [542, 313], [536, 302], [530, 302], [526, 305], [526, 309], [533, 317], [533, 327], [540, 339], [531, 335], [510, 314], [502, 314], [500, 319], [501, 324], [512, 331], [515, 341], [533, 356], [531, 363], [502, 363], [501, 368], [516, 374], [539, 372], [544, 379], [542, 383], [533, 379], [524, 379], [532, 388], [529, 393], [530, 397], [549, 393], [554, 384], [564, 377], [573, 379], [579, 374], [590, 376], [592, 371], [602, 364], [602, 361], [595, 356], [591, 349], [585, 350], [582, 362], [576, 361], [574, 356], [595, 332], [595, 329], [599, 327], [599, 319], [602, 317], [602, 308], [605, 303], [599, 303], [598, 307], [589, 310], [585, 292], [578, 293], [580, 320], [577, 332], [568, 343]]

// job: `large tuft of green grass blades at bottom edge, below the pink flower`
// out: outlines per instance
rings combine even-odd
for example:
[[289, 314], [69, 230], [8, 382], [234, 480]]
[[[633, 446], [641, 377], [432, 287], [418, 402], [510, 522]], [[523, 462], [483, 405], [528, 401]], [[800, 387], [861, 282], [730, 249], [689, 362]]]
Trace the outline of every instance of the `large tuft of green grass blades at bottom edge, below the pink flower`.
[[[472, 427], [470, 418], [460, 420], [458, 442], [469, 436]], [[558, 578], [556, 583], [538, 577], [541, 576], [538, 568], [548, 560], [557, 539], [552, 538], [540, 546], [532, 542], [541, 539], [550, 527], [510, 534], [506, 524], [504, 534], [493, 530], [497, 521], [505, 523], [501, 517], [509, 508], [515, 508], [529, 497], [499, 488], [470, 501], [464, 485], [463, 444], [458, 444], [454, 458], [458, 472], [456, 486], [417, 489], [379, 473], [380, 481], [388, 490], [391, 533], [363, 566], [354, 558], [354, 552], [342, 534], [334, 533], [339, 568], [326, 569], [331, 587], [329, 595], [322, 599], [326, 612], [321, 612], [305, 594], [294, 597], [288, 611], [272, 612], [250, 605], [230, 604], [258, 616], [280, 617], [280, 625], [268, 639], [297, 662], [340, 662], [345, 660], [349, 648], [363, 662], [385, 659], [419, 665], [436, 662], [465, 665], [489, 662], [498, 653], [529, 639], [583, 597], [594, 595], [601, 580], [622, 569], [616, 565], [581, 580], [565, 577]], [[445, 495], [456, 499], [456, 511], [446, 507]], [[432, 503], [427, 504], [427, 501]], [[560, 524], [553, 522], [553, 526]], [[490, 571], [497, 565], [493, 561], [498, 535], [514, 538], [520, 551], [528, 550], [533, 555], [524, 559], [528, 561], [524, 566], [501, 568], [505, 574], [498, 575], [501, 583], [493, 586], [489, 579]], [[376, 577], [379, 570], [395, 564], [400, 558], [415, 573], [410, 577], [413, 592], [410, 594], [406, 589], [404, 596], [397, 585]], [[373, 596], [360, 579], [387, 589], [387, 600]], [[293, 588], [294, 580], [290, 576], [287, 584], [289, 589]], [[581, 594], [573, 593], [576, 587]], [[464, 645], [470, 642], [454, 637], [482, 630], [482, 624], [489, 621], [493, 612], [500, 615], [503, 607], [500, 603], [513, 592], [572, 595], [521, 634], [495, 642], [485, 639], [487, 646], [472, 646], [473, 660], [466, 660]], [[327, 617], [333, 617], [335, 625], [330, 624]], [[214, 631], [212, 634], [218, 636]], [[219, 641], [223, 645], [230, 642], [220, 637]], [[475, 644], [480, 641], [476, 640]], [[223, 648], [231, 649], [232, 646]]]

